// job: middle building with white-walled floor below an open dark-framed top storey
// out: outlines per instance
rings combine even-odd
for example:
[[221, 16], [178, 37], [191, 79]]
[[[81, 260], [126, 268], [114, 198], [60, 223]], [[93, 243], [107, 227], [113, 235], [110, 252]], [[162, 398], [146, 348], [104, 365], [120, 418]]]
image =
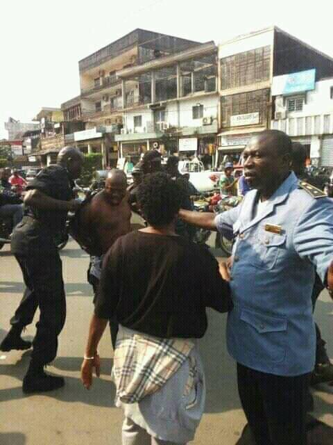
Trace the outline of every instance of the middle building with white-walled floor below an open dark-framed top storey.
[[124, 104], [115, 136], [122, 157], [159, 145], [166, 152], [213, 149], [218, 129], [217, 47], [196, 44], [117, 72]]

